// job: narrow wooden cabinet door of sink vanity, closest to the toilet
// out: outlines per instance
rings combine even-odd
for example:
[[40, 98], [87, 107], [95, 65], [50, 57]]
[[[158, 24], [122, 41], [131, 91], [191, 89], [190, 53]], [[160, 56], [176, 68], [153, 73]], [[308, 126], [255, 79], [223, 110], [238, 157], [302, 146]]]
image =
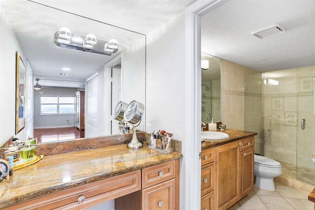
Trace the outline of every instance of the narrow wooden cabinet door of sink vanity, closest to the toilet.
[[241, 152], [241, 197], [254, 187], [254, 147]]

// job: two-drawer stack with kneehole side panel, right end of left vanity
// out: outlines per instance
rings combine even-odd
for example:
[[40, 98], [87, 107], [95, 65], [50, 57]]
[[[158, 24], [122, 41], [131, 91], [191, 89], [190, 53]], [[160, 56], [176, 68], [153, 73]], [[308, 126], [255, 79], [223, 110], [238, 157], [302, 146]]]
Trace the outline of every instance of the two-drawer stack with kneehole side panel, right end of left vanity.
[[115, 210], [179, 210], [179, 160], [143, 169], [142, 190], [115, 199]]

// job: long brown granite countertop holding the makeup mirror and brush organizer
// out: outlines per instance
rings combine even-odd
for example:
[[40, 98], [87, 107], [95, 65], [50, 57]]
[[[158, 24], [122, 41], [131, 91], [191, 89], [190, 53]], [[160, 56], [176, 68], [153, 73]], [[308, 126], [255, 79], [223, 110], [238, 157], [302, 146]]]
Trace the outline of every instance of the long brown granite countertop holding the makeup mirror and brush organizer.
[[0, 182], [0, 209], [181, 157], [178, 152], [163, 154], [147, 146], [128, 149], [126, 144], [44, 156]]

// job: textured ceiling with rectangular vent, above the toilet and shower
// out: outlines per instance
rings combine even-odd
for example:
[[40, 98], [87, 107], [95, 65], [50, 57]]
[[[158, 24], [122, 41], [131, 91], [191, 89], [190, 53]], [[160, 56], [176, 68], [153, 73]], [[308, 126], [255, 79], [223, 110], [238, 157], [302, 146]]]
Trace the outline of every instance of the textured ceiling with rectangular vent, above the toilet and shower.
[[[201, 19], [204, 53], [259, 71], [315, 65], [315, 0], [229, 0]], [[252, 35], [275, 23], [286, 31]]]

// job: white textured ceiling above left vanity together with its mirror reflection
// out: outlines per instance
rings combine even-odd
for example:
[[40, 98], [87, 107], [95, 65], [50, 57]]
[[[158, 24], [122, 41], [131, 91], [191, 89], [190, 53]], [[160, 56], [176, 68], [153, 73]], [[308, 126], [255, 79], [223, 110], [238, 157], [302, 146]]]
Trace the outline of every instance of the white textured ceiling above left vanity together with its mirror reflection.
[[[144, 34], [184, 10], [193, 1], [0, 0], [0, 15], [14, 30], [35, 77], [84, 81], [115, 55], [135, 43], [139, 44], [139, 39], [143, 40], [144, 45]], [[54, 43], [53, 36], [63, 26], [77, 35], [93, 33], [97, 39], [105, 41], [115, 38], [119, 51], [105, 56], [60, 48]], [[64, 72], [61, 70], [63, 67], [71, 71]], [[69, 75], [58, 76], [60, 72]], [[39, 83], [51, 86], [51, 81], [48, 82], [41, 80]], [[67, 84], [75, 86], [75, 83]]]

